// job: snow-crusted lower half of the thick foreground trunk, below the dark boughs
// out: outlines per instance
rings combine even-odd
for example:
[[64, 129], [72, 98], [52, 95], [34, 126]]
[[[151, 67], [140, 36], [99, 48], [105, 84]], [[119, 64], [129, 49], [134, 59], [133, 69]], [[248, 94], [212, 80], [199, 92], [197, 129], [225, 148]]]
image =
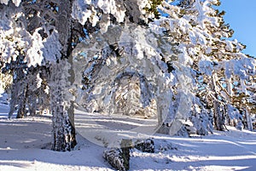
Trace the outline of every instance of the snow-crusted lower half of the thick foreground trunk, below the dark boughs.
[[[75, 139], [73, 98], [68, 92], [67, 60], [51, 66], [50, 111], [52, 112], [54, 151], [71, 151], [77, 144]], [[63, 70], [64, 68], [64, 70]]]

